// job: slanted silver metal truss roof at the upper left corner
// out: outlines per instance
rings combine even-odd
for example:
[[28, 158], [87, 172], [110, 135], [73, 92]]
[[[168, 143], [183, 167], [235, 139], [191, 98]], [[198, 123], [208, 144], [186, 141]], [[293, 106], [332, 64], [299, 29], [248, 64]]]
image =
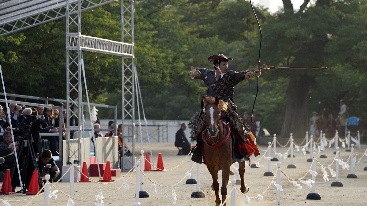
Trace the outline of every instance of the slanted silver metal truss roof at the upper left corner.
[[[67, 0], [69, 4], [77, 0]], [[81, 0], [81, 11], [117, 0]], [[66, 16], [66, 0], [0, 0], [0, 36]]]

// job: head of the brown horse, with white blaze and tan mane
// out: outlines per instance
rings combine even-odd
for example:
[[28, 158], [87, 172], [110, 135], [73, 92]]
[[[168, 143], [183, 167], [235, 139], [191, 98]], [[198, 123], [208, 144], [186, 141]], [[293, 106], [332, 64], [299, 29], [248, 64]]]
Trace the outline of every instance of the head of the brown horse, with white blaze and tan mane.
[[228, 103], [219, 100], [218, 95], [215, 95], [215, 98], [210, 96], [204, 97], [204, 105], [205, 105], [205, 120], [208, 125], [208, 136], [215, 137], [218, 135], [219, 131], [219, 123], [221, 122], [220, 114], [221, 110], [226, 110]]

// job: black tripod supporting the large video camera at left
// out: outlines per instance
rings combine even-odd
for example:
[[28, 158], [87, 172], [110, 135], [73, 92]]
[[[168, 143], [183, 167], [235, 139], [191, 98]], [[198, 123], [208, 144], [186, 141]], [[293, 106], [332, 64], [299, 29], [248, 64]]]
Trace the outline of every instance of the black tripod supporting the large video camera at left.
[[[18, 192], [21, 192], [21, 193], [24, 193], [27, 191], [26, 188], [29, 187], [28, 184], [30, 183], [30, 180], [32, 178], [33, 169], [38, 171], [37, 174], [38, 174], [39, 188], [43, 187], [40, 170], [38, 169], [38, 165], [36, 161], [36, 154], [34, 154], [33, 144], [30, 141], [29, 137], [30, 137], [29, 135], [21, 136], [21, 138], [19, 139], [19, 145], [18, 145], [18, 163], [19, 163], [19, 170], [21, 172], [22, 183], [23, 183], [23, 188], [21, 188], [21, 190]], [[11, 180], [13, 182], [12, 184], [14, 184], [13, 178], [14, 178], [14, 173], [17, 173], [16, 172], [17, 168], [18, 168], [17, 162], [14, 162], [13, 168], [11, 170]], [[13, 187], [15, 186], [16, 185], [13, 185]]]

